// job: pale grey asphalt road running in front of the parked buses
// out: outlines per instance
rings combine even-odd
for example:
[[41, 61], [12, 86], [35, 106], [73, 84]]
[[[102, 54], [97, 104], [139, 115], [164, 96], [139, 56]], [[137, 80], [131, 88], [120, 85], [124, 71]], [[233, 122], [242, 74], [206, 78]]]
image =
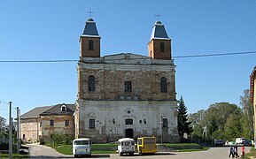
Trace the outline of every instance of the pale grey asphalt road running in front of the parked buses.
[[[74, 158], [73, 155], [62, 155], [59, 154], [55, 149], [49, 148], [43, 145], [38, 144], [28, 144], [30, 150], [30, 158]], [[245, 151], [249, 152], [251, 148], [246, 147]], [[245, 153], [246, 153], [245, 152]], [[238, 154], [241, 155], [241, 147], [238, 148]], [[219, 148], [210, 148], [207, 151], [197, 151], [197, 152], [158, 152], [155, 155], [139, 155], [135, 154], [134, 156], [119, 156], [118, 154], [111, 155], [96, 155], [93, 154], [87, 158], [107, 158], [107, 159], [115, 159], [115, 158], [136, 158], [136, 159], [165, 159], [165, 158], [174, 158], [174, 159], [227, 159], [229, 158], [229, 147], [219, 147]]]

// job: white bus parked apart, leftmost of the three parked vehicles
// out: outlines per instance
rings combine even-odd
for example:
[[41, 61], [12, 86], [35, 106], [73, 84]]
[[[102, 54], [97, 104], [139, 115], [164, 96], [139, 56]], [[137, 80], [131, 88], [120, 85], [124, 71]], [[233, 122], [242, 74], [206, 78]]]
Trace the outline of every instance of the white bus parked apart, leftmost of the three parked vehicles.
[[89, 138], [80, 138], [73, 140], [73, 155], [91, 155], [91, 142]]

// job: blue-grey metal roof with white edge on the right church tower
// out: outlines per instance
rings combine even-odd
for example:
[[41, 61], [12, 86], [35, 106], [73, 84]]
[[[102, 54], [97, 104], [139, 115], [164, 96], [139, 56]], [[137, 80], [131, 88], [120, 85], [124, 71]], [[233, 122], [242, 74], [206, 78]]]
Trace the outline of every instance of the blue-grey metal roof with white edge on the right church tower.
[[167, 31], [165, 29], [165, 26], [160, 21], [156, 21], [156, 23], [155, 23], [155, 25], [152, 29], [151, 40], [152, 39], [167, 39], [167, 40], [170, 40], [168, 35], [167, 35]]

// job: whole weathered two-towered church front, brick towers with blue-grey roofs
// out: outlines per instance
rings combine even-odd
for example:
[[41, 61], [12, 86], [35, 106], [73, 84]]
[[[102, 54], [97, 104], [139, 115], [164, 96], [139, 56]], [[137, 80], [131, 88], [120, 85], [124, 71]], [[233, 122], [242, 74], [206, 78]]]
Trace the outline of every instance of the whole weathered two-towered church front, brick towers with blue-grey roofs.
[[148, 57], [101, 57], [100, 39], [96, 22], [88, 19], [80, 37], [75, 138], [110, 142], [156, 136], [159, 142], [177, 142], [175, 64], [164, 25], [153, 26]]

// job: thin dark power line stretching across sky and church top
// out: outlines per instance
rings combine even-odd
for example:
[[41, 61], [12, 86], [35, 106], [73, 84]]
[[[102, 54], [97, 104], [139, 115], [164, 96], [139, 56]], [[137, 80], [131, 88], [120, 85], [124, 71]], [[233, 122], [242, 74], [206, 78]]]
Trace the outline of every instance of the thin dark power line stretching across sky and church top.
[[[187, 55], [187, 56], [174, 56], [173, 58], [195, 58], [195, 57], [223, 57], [223, 56], [237, 56], [256, 54], [256, 51], [244, 51], [244, 52], [229, 52], [229, 53], [215, 53], [215, 54], [199, 54], [199, 55]], [[134, 58], [141, 59], [141, 58]], [[120, 59], [112, 59], [120, 60]], [[57, 60], [0, 60], [0, 63], [74, 63], [79, 60], [75, 59], [57, 59]]]

